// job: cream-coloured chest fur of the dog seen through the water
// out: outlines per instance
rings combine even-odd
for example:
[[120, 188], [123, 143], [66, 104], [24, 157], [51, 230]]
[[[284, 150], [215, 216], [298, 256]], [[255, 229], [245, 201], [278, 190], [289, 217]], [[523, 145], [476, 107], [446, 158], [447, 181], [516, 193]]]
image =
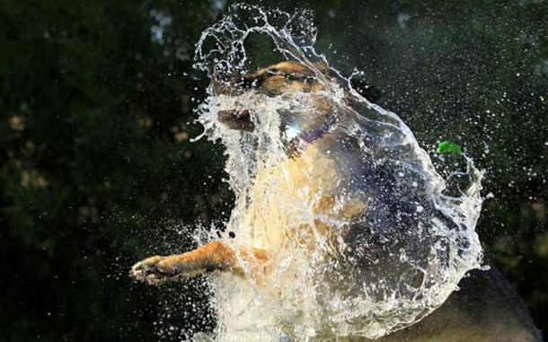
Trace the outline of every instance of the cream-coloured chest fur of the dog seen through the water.
[[299, 227], [314, 225], [319, 216], [337, 215], [332, 202], [342, 175], [323, 143], [258, 172], [240, 232], [253, 247], [286, 247]]

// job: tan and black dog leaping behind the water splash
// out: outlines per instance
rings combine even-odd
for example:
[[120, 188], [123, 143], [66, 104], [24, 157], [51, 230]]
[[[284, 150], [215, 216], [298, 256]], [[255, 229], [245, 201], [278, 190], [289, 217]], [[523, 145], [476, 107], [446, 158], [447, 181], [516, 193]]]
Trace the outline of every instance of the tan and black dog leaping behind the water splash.
[[[268, 292], [274, 297], [289, 295], [284, 293], [283, 288], [271, 284], [273, 272], [278, 267], [277, 263], [283, 259], [282, 257], [296, 253], [295, 248], [304, 251], [306, 262], [306, 258], [318, 251], [318, 241], [335, 247], [328, 248], [327, 250], [333, 252], [323, 253], [319, 263], [314, 264], [314, 267], [323, 267], [322, 262], [329, 263], [330, 258], [347, 260], [350, 256], [349, 258], [355, 261], [354, 265], [359, 267], [386, 270], [380, 275], [382, 277], [389, 279], [392, 274], [400, 274], [394, 269], [396, 261], [386, 255], [392, 255], [393, 253], [389, 252], [402, 248], [402, 245], [411, 246], [413, 241], [402, 238], [405, 234], [400, 234], [399, 239], [393, 239], [397, 242], [381, 239], [372, 231], [364, 236], [361, 225], [364, 223], [364, 212], [381, 217], [376, 220], [380, 223], [384, 222], [393, 210], [402, 209], [397, 207], [402, 205], [386, 199], [382, 203], [383, 206], [375, 206], [374, 202], [369, 203], [362, 197], [354, 197], [356, 189], [341, 186], [353, 183], [352, 172], [356, 172], [358, 165], [353, 164], [355, 161], [351, 156], [341, 157], [340, 155], [345, 154], [338, 153], [338, 147], [334, 143], [338, 137], [331, 127], [335, 125], [337, 118], [331, 115], [335, 104], [323, 96], [326, 79], [337, 80], [340, 76], [322, 63], [312, 67], [291, 61], [261, 68], [252, 74], [216, 76], [213, 81], [216, 96], [230, 97], [245, 92], [258, 92], [269, 97], [280, 97], [288, 93], [306, 93], [313, 99], [311, 106], [315, 113], [314, 118], [299, 117], [290, 112], [280, 114], [284, 117], [284, 122], [291, 123], [290, 127], [298, 127], [298, 132], [287, 134], [285, 137], [284, 150], [287, 158], [278, 165], [271, 165], [258, 171], [256, 175], [249, 192], [253, 199], [252, 205], [247, 207], [243, 227], [238, 232], [243, 241], [248, 241], [248, 245], [238, 245], [226, 240], [213, 241], [182, 254], [147, 258], [132, 267], [131, 276], [150, 285], [161, 285], [166, 281], [177, 281], [199, 274], [230, 275], [232, 278], [251, 279], [259, 291]], [[349, 85], [353, 91], [371, 103], [376, 103], [380, 98], [381, 92], [367, 83], [354, 80]], [[345, 90], [346, 93], [351, 92], [348, 89], [349, 87]], [[360, 105], [352, 96], [347, 95], [344, 99], [350, 108]], [[353, 114], [339, 112], [338, 115]], [[256, 128], [250, 110], [220, 110], [217, 118], [230, 129], [252, 134]], [[341, 163], [347, 166], [346, 171], [339, 167]], [[359, 167], [363, 169], [363, 165]], [[377, 178], [370, 177], [369, 181], [378, 182], [377, 180], [382, 179], [381, 176], [383, 175], [378, 175]], [[378, 184], [375, 186], [380, 187]], [[265, 194], [264, 189], [270, 189], [271, 193]], [[298, 207], [281, 203], [284, 200], [279, 199], [282, 195], [284, 198], [293, 197], [303, 201], [314, 197], [314, 206], [311, 206], [313, 214], [327, 217], [326, 222], [345, 223], [342, 225], [343, 232], [333, 233], [332, 226], [317, 220], [305, 224], [288, 222], [291, 217], [298, 215], [295, 212]], [[342, 197], [344, 200], [340, 200]], [[412, 217], [400, 220], [397, 224], [390, 224], [405, 230], [405, 225], [410, 224], [406, 220], [411, 219]], [[367, 250], [360, 250], [360, 246], [367, 246]], [[420, 253], [420, 248], [416, 252]], [[298, 277], [298, 268], [299, 264], [296, 261], [296, 265], [286, 267], [284, 272], [276, 274], [277, 284], [290, 284]], [[328, 291], [344, 288], [346, 285], [341, 284], [343, 281], [337, 280], [339, 278], [331, 274], [328, 268], [324, 270], [326, 276], [321, 280], [329, 283]], [[462, 278], [458, 287], [458, 291], [453, 292], [445, 303], [429, 312], [426, 317], [375, 340], [541, 341], [540, 332], [535, 329], [525, 305], [493, 265], [488, 270], [470, 271]], [[291, 335], [290, 332], [287, 333], [288, 337]], [[374, 339], [320, 333], [307, 340], [366, 342]]]

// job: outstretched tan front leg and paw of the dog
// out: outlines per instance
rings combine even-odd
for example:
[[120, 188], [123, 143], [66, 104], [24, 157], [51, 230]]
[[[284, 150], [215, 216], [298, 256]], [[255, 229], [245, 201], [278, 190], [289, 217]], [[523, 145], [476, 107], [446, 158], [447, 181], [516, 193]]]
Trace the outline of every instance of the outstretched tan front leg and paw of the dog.
[[[264, 250], [241, 248], [240, 256], [254, 272], [266, 270], [268, 255]], [[243, 268], [236, 261], [234, 250], [219, 241], [182, 254], [144, 259], [131, 267], [130, 276], [150, 285], [161, 285], [166, 281], [216, 270], [243, 276]]]

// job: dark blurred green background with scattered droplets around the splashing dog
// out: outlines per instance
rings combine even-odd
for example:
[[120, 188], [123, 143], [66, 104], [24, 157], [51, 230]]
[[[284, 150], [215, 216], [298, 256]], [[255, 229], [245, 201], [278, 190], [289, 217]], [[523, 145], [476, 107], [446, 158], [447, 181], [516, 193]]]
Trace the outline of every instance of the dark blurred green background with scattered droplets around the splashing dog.
[[[223, 229], [222, 146], [191, 143], [199, 34], [230, 1], [4, 0], [0, 7], [0, 339], [178, 341], [212, 329], [196, 278], [152, 288], [129, 267]], [[314, 10], [316, 47], [365, 72], [429, 153], [485, 169], [477, 227], [548, 329], [548, 5], [263, 1]]]

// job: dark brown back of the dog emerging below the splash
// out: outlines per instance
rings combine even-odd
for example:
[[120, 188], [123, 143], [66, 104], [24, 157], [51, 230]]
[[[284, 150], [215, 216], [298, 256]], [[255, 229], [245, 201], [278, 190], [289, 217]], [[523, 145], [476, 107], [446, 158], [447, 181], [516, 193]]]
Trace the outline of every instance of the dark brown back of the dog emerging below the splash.
[[425, 319], [377, 341], [542, 341], [525, 305], [496, 267], [470, 271], [459, 288]]

